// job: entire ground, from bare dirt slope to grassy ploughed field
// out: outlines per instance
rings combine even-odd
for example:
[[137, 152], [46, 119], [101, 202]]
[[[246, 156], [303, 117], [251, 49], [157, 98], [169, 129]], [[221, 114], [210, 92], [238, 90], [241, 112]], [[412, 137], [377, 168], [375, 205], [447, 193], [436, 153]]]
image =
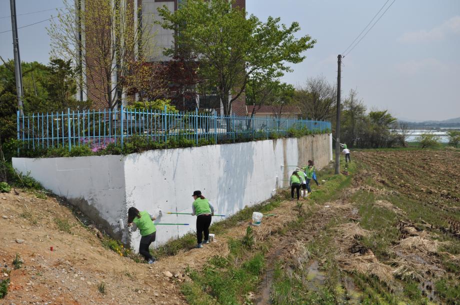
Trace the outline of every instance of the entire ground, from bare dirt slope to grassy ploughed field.
[[58, 198], [0, 194], [0, 301], [460, 304], [460, 152], [353, 152], [341, 173], [319, 172], [306, 200], [273, 198], [260, 227], [246, 211], [154, 265], [105, 248]]

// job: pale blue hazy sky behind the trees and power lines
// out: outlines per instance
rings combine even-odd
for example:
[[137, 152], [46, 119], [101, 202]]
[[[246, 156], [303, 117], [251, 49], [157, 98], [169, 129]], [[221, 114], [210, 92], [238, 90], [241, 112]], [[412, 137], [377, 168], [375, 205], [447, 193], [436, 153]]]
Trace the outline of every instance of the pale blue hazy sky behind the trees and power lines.
[[[335, 83], [337, 54], [354, 40], [385, 0], [246, 0], [261, 20], [297, 21], [298, 36], [317, 40], [305, 60], [282, 81], [303, 84], [323, 75]], [[389, 5], [392, 0], [388, 1]], [[16, 0], [17, 26], [56, 15], [62, 0]], [[383, 9], [384, 10], [384, 9]], [[382, 10], [382, 11], [383, 11]], [[9, 1], [0, 0], [0, 32], [11, 29]], [[47, 63], [49, 21], [18, 29], [22, 61]], [[0, 33], [0, 56], [12, 58], [11, 31]], [[396, 0], [342, 60], [341, 92], [356, 89], [367, 108], [389, 110], [400, 119], [460, 117], [460, 0]]]

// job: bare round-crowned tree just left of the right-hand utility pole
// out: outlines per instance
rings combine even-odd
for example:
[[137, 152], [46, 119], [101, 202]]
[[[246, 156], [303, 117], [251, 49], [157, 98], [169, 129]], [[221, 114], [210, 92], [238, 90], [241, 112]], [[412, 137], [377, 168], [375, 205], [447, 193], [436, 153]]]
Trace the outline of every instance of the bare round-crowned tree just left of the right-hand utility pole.
[[328, 120], [333, 117], [336, 88], [324, 76], [308, 78], [305, 85], [295, 90], [295, 99], [305, 117]]

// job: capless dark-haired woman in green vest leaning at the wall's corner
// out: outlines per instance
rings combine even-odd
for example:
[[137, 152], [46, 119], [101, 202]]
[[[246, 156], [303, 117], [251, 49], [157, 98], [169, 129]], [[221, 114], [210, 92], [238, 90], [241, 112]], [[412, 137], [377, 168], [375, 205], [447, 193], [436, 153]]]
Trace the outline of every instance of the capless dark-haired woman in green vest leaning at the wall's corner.
[[134, 207], [128, 210], [128, 226], [131, 227], [132, 232], [139, 229], [141, 236], [139, 253], [145, 258], [148, 264], [153, 264], [155, 262], [155, 258], [152, 257], [150, 251], [148, 251], [148, 247], [155, 241], [156, 237], [156, 228], [152, 220], [155, 220], [155, 217], [148, 214], [146, 211], [139, 212], [139, 210]]

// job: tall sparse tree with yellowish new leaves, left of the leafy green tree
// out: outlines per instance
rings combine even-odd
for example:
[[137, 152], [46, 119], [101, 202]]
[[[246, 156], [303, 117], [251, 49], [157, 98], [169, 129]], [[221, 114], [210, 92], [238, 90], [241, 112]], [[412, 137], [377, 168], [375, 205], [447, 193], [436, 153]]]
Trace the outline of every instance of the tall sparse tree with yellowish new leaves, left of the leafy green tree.
[[64, 0], [64, 8], [47, 28], [51, 54], [71, 60], [81, 90], [113, 109], [125, 90], [123, 81], [137, 50], [145, 47], [148, 29], [134, 27], [132, 3], [121, 0]]

